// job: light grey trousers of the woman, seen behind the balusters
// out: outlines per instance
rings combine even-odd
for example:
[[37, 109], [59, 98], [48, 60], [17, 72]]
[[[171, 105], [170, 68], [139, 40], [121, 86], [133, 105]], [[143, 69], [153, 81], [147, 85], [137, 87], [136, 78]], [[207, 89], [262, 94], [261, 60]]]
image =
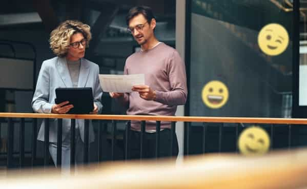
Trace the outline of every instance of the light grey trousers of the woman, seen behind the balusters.
[[[62, 169], [70, 169], [70, 148], [71, 148], [71, 135], [70, 132], [65, 140], [62, 142]], [[56, 166], [56, 149], [57, 143], [49, 143], [49, 152], [52, 157], [53, 163]], [[75, 164], [83, 164], [84, 142], [80, 138], [80, 132], [76, 129], [75, 135]]]

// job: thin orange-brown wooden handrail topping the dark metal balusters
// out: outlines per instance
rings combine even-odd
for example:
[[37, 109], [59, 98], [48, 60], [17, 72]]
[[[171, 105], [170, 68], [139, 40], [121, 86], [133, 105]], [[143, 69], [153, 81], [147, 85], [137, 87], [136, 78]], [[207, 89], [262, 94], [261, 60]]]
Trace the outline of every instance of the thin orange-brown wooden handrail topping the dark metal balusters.
[[195, 117], [195, 116], [132, 116], [132, 115], [89, 115], [89, 114], [38, 114], [0, 113], [4, 118], [66, 118], [99, 120], [144, 120], [144, 121], [185, 121], [217, 123], [266, 123], [266, 124], [307, 124], [307, 119], [256, 118], [256, 117]]

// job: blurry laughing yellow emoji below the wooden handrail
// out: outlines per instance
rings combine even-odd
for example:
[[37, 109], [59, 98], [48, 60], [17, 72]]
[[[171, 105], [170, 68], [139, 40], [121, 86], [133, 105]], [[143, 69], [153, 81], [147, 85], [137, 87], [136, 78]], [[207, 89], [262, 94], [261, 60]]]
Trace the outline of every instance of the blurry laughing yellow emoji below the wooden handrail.
[[262, 155], [270, 148], [270, 137], [262, 128], [250, 127], [240, 134], [238, 146], [244, 155]]

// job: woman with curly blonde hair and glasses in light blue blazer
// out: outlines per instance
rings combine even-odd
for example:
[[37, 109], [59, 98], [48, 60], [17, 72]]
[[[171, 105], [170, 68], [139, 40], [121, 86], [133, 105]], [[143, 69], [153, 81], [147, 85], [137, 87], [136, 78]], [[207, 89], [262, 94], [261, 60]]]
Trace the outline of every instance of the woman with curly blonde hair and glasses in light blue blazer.
[[[92, 114], [101, 112], [102, 90], [98, 74], [99, 67], [83, 58], [91, 40], [90, 27], [76, 20], [61, 23], [50, 34], [50, 48], [56, 57], [45, 60], [39, 71], [32, 108], [37, 113], [65, 114], [73, 108], [68, 101], [56, 104], [55, 89], [58, 87], [91, 87], [94, 98]], [[63, 119], [62, 167], [70, 167], [70, 119]], [[90, 124], [89, 142], [94, 141]], [[45, 124], [38, 132], [38, 140], [44, 141]], [[49, 152], [56, 165], [57, 119], [50, 119]], [[76, 120], [76, 163], [83, 162], [84, 120]]]

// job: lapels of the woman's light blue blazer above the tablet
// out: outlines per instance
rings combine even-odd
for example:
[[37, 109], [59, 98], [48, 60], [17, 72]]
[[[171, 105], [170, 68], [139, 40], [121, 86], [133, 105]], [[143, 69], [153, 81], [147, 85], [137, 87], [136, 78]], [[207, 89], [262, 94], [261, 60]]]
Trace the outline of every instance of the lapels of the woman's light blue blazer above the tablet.
[[[79, 79], [78, 79], [78, 87], [86, 87], [86, 82], [89, 77], [90, 69], [89, 69], [89, 62], [81, 58], [80, 62], [80, 71], [79, 71]], [[62, 78], [65, 87], [72, 87], [72, 81], [70, 78], [67, 61], [65, 57], [58, 57], [56, 62], [56, 68], [59, 72], [60, 77]]]

